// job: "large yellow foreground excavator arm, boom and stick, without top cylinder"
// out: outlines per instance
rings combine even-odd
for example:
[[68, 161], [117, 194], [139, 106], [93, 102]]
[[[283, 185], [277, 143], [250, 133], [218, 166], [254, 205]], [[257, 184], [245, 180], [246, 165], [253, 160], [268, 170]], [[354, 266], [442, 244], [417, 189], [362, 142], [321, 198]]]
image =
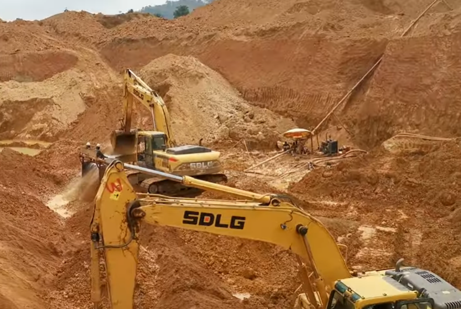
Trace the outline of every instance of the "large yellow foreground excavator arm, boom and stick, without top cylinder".
[[[104, 252], [111, 309], [132, 309], [141, 223], [260, 240], [295, 253], [312, 271], [303, 276], [307, 298], [325, 308], [334, 282], [351, 277], [325, 226], [301, 209], [281, 202], [176, 199], [142, 194], [138, 198], [120, 161], [104, 174], [91, 220], [91, 299], [101, 302], [99, 254]], [[306, 267], [304, 267], [306, 269]]]

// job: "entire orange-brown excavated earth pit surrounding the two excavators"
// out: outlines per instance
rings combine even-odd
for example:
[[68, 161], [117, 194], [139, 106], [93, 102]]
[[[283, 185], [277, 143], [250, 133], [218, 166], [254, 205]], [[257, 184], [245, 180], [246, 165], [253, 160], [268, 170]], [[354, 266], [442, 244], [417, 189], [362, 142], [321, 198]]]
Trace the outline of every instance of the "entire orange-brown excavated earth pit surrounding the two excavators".
[[[0, 307], [91, 308], [97, 187], [76, 177], [78, 146], [108, 143], [119, 125], [126, 67], [164, 97], [180, 142], [216, 146], [232, 186], [288, 192], [348, 246], [350, 268], [393, 267], [403, 257], [460, 288], [460, 144], [390, 139], [400, 131], [458, 136], [461, 20], [448, 2], [453, 11], [439, 3], [404, 39], [425, 1], [221, 0], [174, 21], [66, 12], [0, 23]], [[317, 124], [382, 53], [335, 112], [342, 123], [321, 128], [322, 139], [333, 134], [369, 154], [328, 170], [284, 175], [300, 163], [285, 157], [242, 172], [270, 157], [294, 121]], [[148, 116], [135, 107], [137, 126], [150, 128]], [[143, 229], [138, 309], [292, 307], [300, 282], [290, 253]]]

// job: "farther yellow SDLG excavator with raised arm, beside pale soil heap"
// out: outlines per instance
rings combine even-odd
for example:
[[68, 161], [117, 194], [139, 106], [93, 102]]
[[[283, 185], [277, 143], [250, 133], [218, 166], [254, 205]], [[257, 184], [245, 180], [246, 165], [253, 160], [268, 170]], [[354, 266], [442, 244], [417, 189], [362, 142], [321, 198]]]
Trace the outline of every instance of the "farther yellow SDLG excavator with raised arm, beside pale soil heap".
[[[220, 152], [198, 145], [177, 146], [171, 128], [170, 114], [162, 97], [152, 90], [133, 71], [124, 73], [123, 115], [121, 129], [112, 132], [110, 142], [112, 154], [103, 154], [100, 145], [89, 143], [80, 149], [82, 176], [93, 167], [99, 168], [100, 179], [106, 168], [105, 158], [117, 158], [148, 169], [155, 169], [177, 175], [188, 175], [213, 183], [226, 182], [220, 173]], [[152, 114], [154, 130], [132, 129], [133, 99], [148, 108]], [[101, 159], [103, 161], [101, 161]], [[131, 184], [138, 192], [175, 195], [200, 193], [199, 190], [153, 177], [141, 171], [127, 170]]]

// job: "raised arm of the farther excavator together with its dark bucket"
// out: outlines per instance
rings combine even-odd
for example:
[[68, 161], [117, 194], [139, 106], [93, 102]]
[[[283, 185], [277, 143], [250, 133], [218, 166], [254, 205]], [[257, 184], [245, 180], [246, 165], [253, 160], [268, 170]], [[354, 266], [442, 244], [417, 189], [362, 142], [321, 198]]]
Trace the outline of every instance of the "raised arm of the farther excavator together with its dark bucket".
[[123, 87], [123, 119], [121, 130], [115, 131], [112, 137], [114, 149], [132, 149], [135, 132], [132, 128], [133, 98], [151, 111], [154, 131], [165, 133], [166, 146], [174, 147], [176, 141], [171, 128], [171, 119], [162, 97], [149, 87], [133, 71], [126, 69]]

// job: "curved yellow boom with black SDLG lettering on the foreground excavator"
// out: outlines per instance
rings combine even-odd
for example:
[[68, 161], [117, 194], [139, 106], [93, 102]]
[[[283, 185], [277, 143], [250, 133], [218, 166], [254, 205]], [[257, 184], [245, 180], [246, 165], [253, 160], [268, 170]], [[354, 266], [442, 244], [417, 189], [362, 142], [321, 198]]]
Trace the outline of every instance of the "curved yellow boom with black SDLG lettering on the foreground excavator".
[[[146, 213], [144, 220], [151, 224], [274, 243], [290, 249], [309, 264], [303, 238], [296, 231], [296, 226], [302, 224], [308, 227], [307, 240], [325, 284], [332, 288], [336, 280], [351, 276], [328, 230], [319, 221], [304, 214], [301, 210], [294, 207], [237, 206], [232, 202], [228, 202], [228, 206], [222, 204], [218, 206], [219, 204], [215, 202], [213, 204], [203, 203], [203, 200], [198, 200], [198, 202], [184, 200], [176, 205], [157, 201], [156, 204], [143, 206], [141, 209]], [[214, 223], [210, 226], [185, 224], [183, 222], [185, 212], [213, 214]], [[242, 228], [218, 227], [216, 224], [218, 217], [220, 218], [219, 223], [227, 226], [230, 226], [232, 217], [234, 217], [235, 224], [241, 225]], [[235, 220], [236, 217], [244, 217], [244, 220]], [[285, 226], [285, 229], [282, 226]]]

